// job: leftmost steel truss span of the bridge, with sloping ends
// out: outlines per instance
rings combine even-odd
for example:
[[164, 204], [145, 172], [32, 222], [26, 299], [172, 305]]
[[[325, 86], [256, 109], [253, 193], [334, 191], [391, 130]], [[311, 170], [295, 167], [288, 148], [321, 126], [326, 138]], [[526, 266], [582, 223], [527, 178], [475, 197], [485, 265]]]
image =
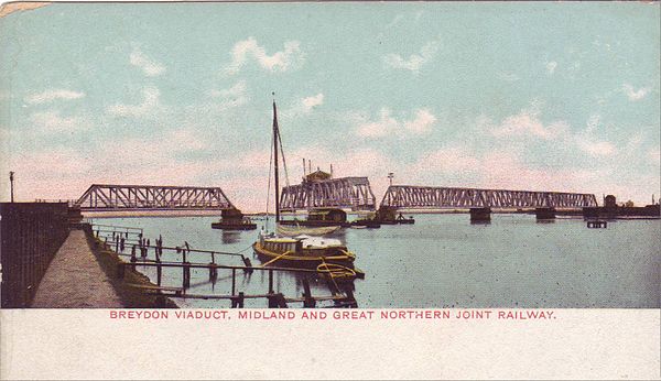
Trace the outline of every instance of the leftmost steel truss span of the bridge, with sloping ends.
[[231, 209], [218, 187], [94, 184], [78, 198], [80, 210]]

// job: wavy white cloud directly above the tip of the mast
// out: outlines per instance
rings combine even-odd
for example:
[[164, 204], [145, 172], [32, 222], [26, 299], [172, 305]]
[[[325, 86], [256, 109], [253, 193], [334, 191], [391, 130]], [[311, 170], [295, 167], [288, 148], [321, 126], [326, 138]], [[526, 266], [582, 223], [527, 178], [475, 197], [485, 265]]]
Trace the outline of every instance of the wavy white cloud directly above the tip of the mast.
[[284, 50], [269, 55], [254, 37], [248, 37], [237, 42], [231, 48], [231, 63], [225, 67], [225, 74], [237, 74], [246, 65], [249, 57], [254, 58], [263, 69], [272, 73], [299, 68], [305, 61], [299, 41], [286, 41]]

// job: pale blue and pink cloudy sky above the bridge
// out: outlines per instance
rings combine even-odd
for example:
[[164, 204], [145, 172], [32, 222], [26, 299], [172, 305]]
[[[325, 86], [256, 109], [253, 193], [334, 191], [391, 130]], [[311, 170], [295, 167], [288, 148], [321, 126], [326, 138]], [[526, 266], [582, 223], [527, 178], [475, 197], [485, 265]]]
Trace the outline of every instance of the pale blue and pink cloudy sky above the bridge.
[[[266, 204], [302, 159], [412, 185], [659, 197], [659, 3], [55, 3], [0, 19], [0, 170]], [[2, 182], [1, 197], [8, 184]]]

